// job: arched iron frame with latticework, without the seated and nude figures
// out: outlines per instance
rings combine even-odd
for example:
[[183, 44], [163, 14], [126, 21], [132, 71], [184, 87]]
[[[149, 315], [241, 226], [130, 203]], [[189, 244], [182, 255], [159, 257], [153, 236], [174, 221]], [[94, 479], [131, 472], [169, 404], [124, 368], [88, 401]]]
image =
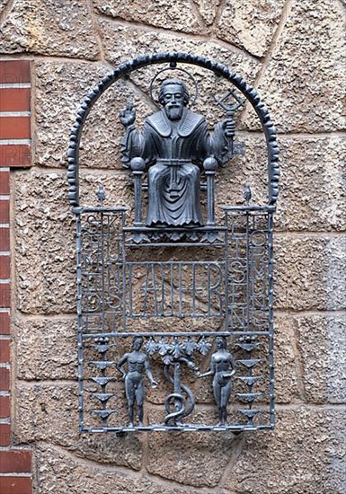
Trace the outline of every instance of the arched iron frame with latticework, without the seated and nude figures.
[[[141, 223], [141, 217], [137, 216], [134, 225], [126, 225], [125, 215], [126, 208], [124, 207], [103, 207], [102, 193], [101, 193], [101, 207], [84, 207], [79, 202], [79, 143], [82, 136], [84, 122], [87, 116], [93, 108], [93, 104], [102, 96], [111, 84], [114, 84], [120, 79], [120, 77], [128, 76], [138, 68], [169, 63], [172, 66], [176, 64], [191, 64], [206, 68], [212, 71], [216, 75], [220, 75], [233, 84], [237, 90], [244, 94], [247, 101], [253, 105], [253, 109], [256, 111], [259, 119], [262, 123], [264, 135], [266, 137], [267, 151], [268, 151], [268, 183], [269, 194], [268, 203], [265, 206], [252, 206], [245, 205], [242, 207], [226, 206], [224, 209], [224, 224], [215, 225], [213, 222], [213, 183], [208, 182], [208, 223], [206, 226], [196, 227], [193, 229], [195, 236], [187, 235], [185, 237], [177, 236], [177, 240], [168, 239], [162, 241], [162, 237], [155, 240], [149, 239], [148, 242], [143, 243], [142, 234], [155, 233], [155, 228], [149, 228]], [[223, 101], [219, 101], [223, 104]], [[239, 102], [239, 101], [238, 101]], [[235, 109], [232, 109], [233, 111]], [[204, 57], [196, 57], [186, 53], [159, 53], [155, 55], [137, 57], [131, 61], [127, 61], [116, 68], [110, 75], [107, 75], [102, 79], [91, 93], [89, 93], [81, 109], [77, 112], [77, 118], [75, 125], [71, 132], [70, 146], [68, 149], [68, 182], [69, 182], [69, 202], [73, 207], [76, 223], [76, 251], [77, 251], [77, 317], [78, 317], [78, 381], [79, 381], [79, 422], [80, 430], [82, 432], [129, 432], [139, 430], [232, 430], [239, 432], [243, 430], [258, 430], [258, 429], [271, 429], [274, 427], [274, 366], [273, 366], [273, 251], [272, 251], [272, 234], [273, 234], [273, 213], [275, 212], [276, 200], [279, 193], [279, 147], [276, 139], [275, 128], [271, 122], [269, 112], [266, 106], [260, 100], [260, 97], [256, 90], [245, 83], [244, 79], [240, 75], [236, 75], [233, 71], [229, 70], [226, 66], [209, 61]], [[135, 194], [137, 205], [141, 204], [141, 186], [139, 187], [138, 176], [135, 175]], [[207, 175], [208, 176], [208, 175]], [[138, 185], [139, 184], [139, 185]], [[211, 184], [211, 185], [210, 185]], [[210, 192], [211, 190], [211, 192]], [[138, 208], [137, 208], [138, 212]], [[181, 229], [173, 228], [175, 234], [179, 234], [179, 231], [186, 234], [187, 229], [182, 227]], [[165, 231], [169, 231], [166, 228]], [[191, 229], [189, 230], [191, 233]], [[189, 233], [189, 234], [190, 234]], [[254, 239], [255, 234], [262, 235], [262, 241], [256, 243]], [[136, 237], [139, 235], [139, 239]], [[93, 251], [91, 245], [97, 243], [97, 260], [90, 259], [88, 249]], [[107, 244], [107, 247], [105, 245]], [[118, 249], [116, 259], [111, 259], [111, 249]], [[138, 265], [142, 264], [144, 269], [155, 271], [155, 263], [158, 269], [171, 269], [171, 272], [178, 270], [181, 273], [181, 267], [191, 266], [192, 273], [196, 272], [202, 264], [203, 260], [193, 261], [132, 261], [129, 259], [129, 251], [140, 249], [153, 250], [162, 247], [175, 247], [177, 249], [183, 248], [196, 248], [200, 247], [208, 249], [209, 251], [224, 250], [223, 261], [217, 260], [214, 263], [208, 261], [208, 279], [210, 278], [210, 266], [216, 266], [219, 268], [222, 265], [223, 282], [225, 293], [223, 294], [223, 304], [220, 304], [219, 313], [210, 314], [196, 313], [195, 310], [192, 313], [182, 312], [182, 303], [180, 307], [180, 313], [174, 313], [172, 303], [172, 313], [169, 316], [177, 317], [212, 317], [219, 316], [225, 321], [225, 327], [222, 331], [129, 331], [127, 322], [129, 318], [143, 318], [147, 317], [165, 317], [164, 314], [164, 302], [162, 302], [161, 313], [159, 310], [155, 310], [155, 313], [146, 312], [134, 314], [132, 307], [130, 306], [131, 297], [129, 296], [129, 287], [131, 287], [131, 269], [135, 269]], [[232, 257], [232, 250], [235, 250]], [[86, 254], [85, 254], [86, 251]], [[256, 254], [256, 251], [260, 251], [260, 254]], [[113, 251], [114, 252], [114, 251]], [[101, 255], [100, 255], [101, 254]], [[256, 258], [257, 255], [257, 258]], [[107, 258], [109, 256], [109, 258]], [[254, 256], [254, 257], [253, 257]], [[262, 257], [261, 257], [262, 256]], [[261, 258], [261, 259], [260, 259]], [[110, 260], [111, 259], [111, 260]], [[233, 272], [233, 264], [244, 260], [244, 276], [245, 280], [238, 285], [244, 289], [243, 301], [238, 303], [239, 293], [236, 293], [236, 272]], [[88, 269], [85, 262], [89, 263], [88, 266], [93, 264], [93, 268]], [[175, 264], [174, 264], [175, 262]], [[258, 263], [262, 268], [258, 268]], [[91, 264], [90, 264], [91, 263]], [[111, 266], [111, 268], [110, 268]], [[114, 268], [116, 266], [116, 269]], [[181, 267], [180, 267], [181, 266]], [[106, 273], [107, 269], [111, 269], [111, 275]], [[121, 284], [121, 300], [116, 309], [111, 310], [111, 315], [107, 313], [106, 307], [110, 306], [111, 293], [110, 285], [105, 286], [109, 282], [110, 276], [114, 276], [115, 270], [118, 273], [116, 276]], [[235, 270], [236, 271], [236, 270]], [[148, 272], [148, 271], [146, 271]], [[163, 271], [162, 271], [163, 272]], [[153, 275], [154, 276], [154, 275]], [[181, 274], [179, 275], [182, 278]], [[196, 285], [194, 281], [194, 274], [192, 274], [192, 286], [191, 292], [196, 293]], [[85, 278], [86, 277], [86, 278]], [[88, 278], [89, 277], [89, 278]], [[101, 308], [99, 313], [101, 314], [101, 326], [93, 330], [89, 329], [88, 318], [91, 318], [90, 311], [88, 310], [88, 304], [95, 304], [93, 300], [93, 289], [85, 288], [86, 283], [89, 283], [90, 279], [95, 277], [100, 278], [102, 294], [102, 300], [97, 302], [97, 306]], [[94, 283], [94, 281], [93, 281]], [[97, 281], [96, 284], [99, 282]], [[208, 281], [208, 287], [211, 287]], [[262, 283], [262, 298], [265, 295], [266, 300], [262, 301], [262, 307], [259, 309], [258, 300], [256, 299], [256, 287], [255, 285]], [[178, 284], [178, 290], [180, 290], [180, 297], [182, 300], [182, 281]], [[97, 285], [100, 287], [99, 285]], [[250, 286], [252, 286], [250, 291]], [[163, 289], [163, 287], [162, 287]], [[174, 288], [175, 289], [175, 288]], [[120, 291], [121, 291], [120, 290]], [[173, 290], [173, 275], [171, 276], [171, 292]], [[146, 296], [147, 296], [146, 292]], [[85, 295], [86, 294], [86, 295]], [[92, 295], [91, 295], [92, 294]], [[86, 296], [86, 298], [85, 298]], [[172, 295], [171, 295], [172, 296]], [[179, 298], [178, 296], [178, 298]], [[195, 295], [193, 295], [195, 296]], [[209, 295], [210, 296], [210, 295]], [[88, 299], [89, 297], [89, 299]], [[260, 297], [261, 298], [261, 297]], [[86, 302], [85, 302], [86, 300]], [[88, 301], [89, 300], [89, 301]], [[93, 300], [93, 302], [90, 302]], [[164, 295], [162, 296], [162, 301]], [[236, 313], [236, 308], [239, 305], [239, 310], [242, 313], [241, 320], [244, 322], [243, 327], [239, 327], [239, 313]], [[253, 307], [251, 306], [253, 304]], [[211, 303], [208, 303], [208, 310]], [[91, 311], [93, 313], [93, 310]], [[122, 329], [120, 331], [107, 331], [108, 317], [122, 318]], [[120, 315], [121, 313], [121, 315]], [[256, 330], [257, 313], [265, 315], [265, 322], [263, 322], [262, 315], [260, 322], [258, 323], [258, 330]], [[253, 315], [255, 314], [255, 315]], [[238, 318], [238, 319], [237, 319]], [[111, 322], [111, 327], [114, 327], [114, 319]], [[235, 321], [235, 323], [233, 322]], [[262, 321], [262, 322], [261, 322]], [[250, 327], [251, 326], [251, 327]], [[263, 330], [265, 326], [265, 331]], [[253, 327], [255, 329], [253, 329]], [[85, 331], [86, 330], [86, 331]], [[173, 393], [166, 397], [165, 410], [166, 417], [164, 422], [151, 424], [148, 426], [140, 425], [134, 426], [130, 424], [126, 426], [124, 424], [111, 424], [109, 422], [112, 414], [116, 410], [107, 408], [109, 400], [113, 399], [115, 393], [106, 393], [107, 385], [110, 384], [116, 378], [116, 372], [112, 375], [108, 375], [108, 369], [115, 367], [114, 370], [119, 371], [115, 360], [107, 357], [108, 355], [114, 355], [113, 349], [115, 342], [124, 342], [129, 338], [142, 337], [145, 340], [146, 355], [160, 354], [163, 357], [164, 362], [164, 375], [168, 382], [173, 384]], [[205, 355], [210, 351], [211, 340], [216, 337], [225, 337], [232, 343], [232, 352], [234, 349], [239, 350], [240, 355], [236, 360], [238, 368], [245, 369], [244, 375], [236, 376], [245, 386], [245, 393], [236, 393], [239, 401], [243, 401], [248, 404], [248, 408], [238, 408], [237, 411], [244, 417], [245, 422], [233, 421], [233, 423], [223, 423], [221, 425], [213, 424], [200, 424], [200, 423], [184, 423], [182, 420], [191, 413], [187, 412], [187, 409], [193, 410], [194, 398], [190, 396], [190, 404], [183, 403], [182, 397], [183, 391], [186, 391], [187, 386], [184, 386], [181, 382], [181, 366], [182, 364], [188, 366], [195, 375], [200, 376], [198, 366], [196, 366], [191, 348], [193, 351], [200, 352], [201, 355]], [[161, 338], [161, 342], [157, 341]], [[262, 341], [261, 341], [262, 338]], [[181, 340], [180, 340], [181, 339]], [[91, 343], [90, 343], [91, 342]], [[268, 381], [267, 395], [269, 398], [269, 411], [267, 413], [267, 421], [258, 421], [256, 416], [262, 412], [262, 410], [253, 409], [253, 401], [261, 398], [262, 393], [253, 392], [253, 385], [259, 380], [257, 375], [253, 375], [253, 368], [260, 365], [261, 358], [253, 357], [253, 353], [257, 351], [259, 346], [265, 342], [267, 350], [265, 357], [267, 357], [266, 369], [268, 375], [266, 377]], [[122, 343], [121, 343], [122, 345]], [[121, 347], [120, 345], [120, 347]], [[126, 346], [126, 344], [125, 344]], [[99, 358], [91, 357], [88, 360], [88, 364], [98, 369], [99, 375], [93, 375], [89, 377], [89, 381], [93, 381], [96, 386], [100, 386], [100, 392], [92, 393], [93, 398], [98, 400], [102, 409], [92, 410], [93, 414], [102, 420], [99, 426], [85, 425], [84, 422], [84, 381], [85, 377], [85, 351], [89, 351], [93, 347]], [[178, 349], [177, 349], [178, 348]], [[187, 350], [186, 348], [190, 348]], [[236, 350], [236, 351], [237, 351]], [[189, 353], [190, 352], [190, 353]], [[164, 360], [165, 358], [165, 360]], [[170, 374], [170, 366], [173, 366], [173, 376]], [[101, 375], [100, 375], [101, 374]], [[193, 401], [193, 402], [192, 402]], [[185, 413], [185, 414], [184, 414]], [[257, 420], [257, 421], [256, 421]]]

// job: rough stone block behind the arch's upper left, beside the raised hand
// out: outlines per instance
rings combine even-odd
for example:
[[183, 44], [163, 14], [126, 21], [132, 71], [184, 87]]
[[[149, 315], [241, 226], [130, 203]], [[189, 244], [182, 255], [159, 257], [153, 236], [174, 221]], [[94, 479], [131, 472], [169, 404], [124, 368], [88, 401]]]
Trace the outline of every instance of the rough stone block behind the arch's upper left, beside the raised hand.
[[[124, 56], [125, 57], [125, 56]], [[123, 57], [123, 59], [124, 59]], [[71, 128], [84, 98], [111, 72], [106, 64], [44, 61], [36, 64], [37, 146], [35, 163], [42, 166], [67, 166], [67, 146]], [[57, 110], [55, 101], [60, 101]], [[127, 101], [134, 101], [141, 115], [150, 110], [139, 98], [138, 90], [121, 79], [96, 101], [86, 119], [80, 146], [80, 165], [89, 168], [121, 169], [120, 141], [124, 128], [118, 112]]]

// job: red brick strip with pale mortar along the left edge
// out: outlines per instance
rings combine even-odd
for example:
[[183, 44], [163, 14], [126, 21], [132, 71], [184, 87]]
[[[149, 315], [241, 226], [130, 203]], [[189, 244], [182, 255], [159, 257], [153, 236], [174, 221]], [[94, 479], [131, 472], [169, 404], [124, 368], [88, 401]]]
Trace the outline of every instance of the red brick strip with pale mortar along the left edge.
[[31, 493], [31, 451], [11, 437], [10, 171], [31, 166], [31, 64], [0, 61], [0, 494]]

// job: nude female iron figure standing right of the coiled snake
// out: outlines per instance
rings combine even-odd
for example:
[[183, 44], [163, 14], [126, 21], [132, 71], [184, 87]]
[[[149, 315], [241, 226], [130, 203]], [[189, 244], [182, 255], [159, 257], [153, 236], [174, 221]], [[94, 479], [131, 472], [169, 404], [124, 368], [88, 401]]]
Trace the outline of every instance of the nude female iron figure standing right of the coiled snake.
[[219, 336], [216, 339], [217, 351], [210, 360], [210, 370], [199, 377], [214, 375], [213, 391], [218, 408], [218, 426], [225, 426], [227, 419], [227, 404], [232, 391], [232, 375], [235, 375], [235, 362], [226, 348], [226, 338]]

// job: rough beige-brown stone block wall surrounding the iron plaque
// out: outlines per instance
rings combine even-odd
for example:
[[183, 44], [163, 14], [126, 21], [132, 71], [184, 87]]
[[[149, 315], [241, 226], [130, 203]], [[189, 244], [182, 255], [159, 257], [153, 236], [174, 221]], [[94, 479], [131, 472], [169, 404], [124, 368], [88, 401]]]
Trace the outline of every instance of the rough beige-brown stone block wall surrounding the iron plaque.
[[[345, 492], [344, 1], [4, 0], [0, 9], [3, 57], [32, 66], [34, 154], [30, 170], [11, 173], [11, 225], [13, 444], [32, 449], [34, 491]], [[78, 435], [69, 130], [103, 75], [164, 50], [231, 66], [258, 88], [278, 129], [273, 432]], [[90, 115], [85, 200], [102, 182], [112, 204], [131, 206], [117, 112], [129, 97], [139, 120], [152, 110], [147, 77], [112, 88]], [[261, 134], [250, 110], [238, 123], [248, 152], [235, 170], [255, 176]], [[230, 190], [234, 180], [226, 171]]]

